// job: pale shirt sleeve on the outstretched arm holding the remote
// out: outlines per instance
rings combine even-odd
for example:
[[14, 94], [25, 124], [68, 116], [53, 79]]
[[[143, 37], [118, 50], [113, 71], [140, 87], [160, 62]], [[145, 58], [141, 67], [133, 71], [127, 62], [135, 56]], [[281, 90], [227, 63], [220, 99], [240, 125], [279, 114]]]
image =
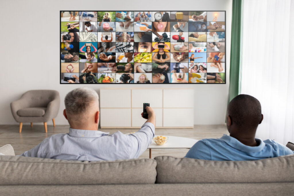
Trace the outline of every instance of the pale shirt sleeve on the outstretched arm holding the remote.
[[141, 129], [136, 133], [129, 134], [128, 141], [131, 145], [131, 152], [129, 158], [138, 158], [147, 149], [149, 144], [151, 144], [154, 137], [155, 127], [151, 122], [146, 122], [142, 125]]

